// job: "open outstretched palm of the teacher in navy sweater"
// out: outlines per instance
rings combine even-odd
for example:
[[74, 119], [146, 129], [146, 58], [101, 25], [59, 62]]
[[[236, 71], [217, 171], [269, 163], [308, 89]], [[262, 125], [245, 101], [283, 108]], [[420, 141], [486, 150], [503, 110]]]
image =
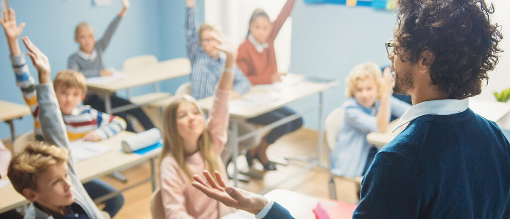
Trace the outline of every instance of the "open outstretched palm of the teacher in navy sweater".
[[259, 213], [268, 203], [266, 198], [260, 194], [226, 186], [218, 171], [215, 171], [214, 175], [219, 185], [208, 171], [203, 171], [203, 176], [208, 182], [203, 181], [202, 178], [195, 175], [193, 176], [195, 182], [193, 182], [192, 185], [205, 193], [209, 198], [215, 199], [226, 206], [245, 210], [252, 214]]

